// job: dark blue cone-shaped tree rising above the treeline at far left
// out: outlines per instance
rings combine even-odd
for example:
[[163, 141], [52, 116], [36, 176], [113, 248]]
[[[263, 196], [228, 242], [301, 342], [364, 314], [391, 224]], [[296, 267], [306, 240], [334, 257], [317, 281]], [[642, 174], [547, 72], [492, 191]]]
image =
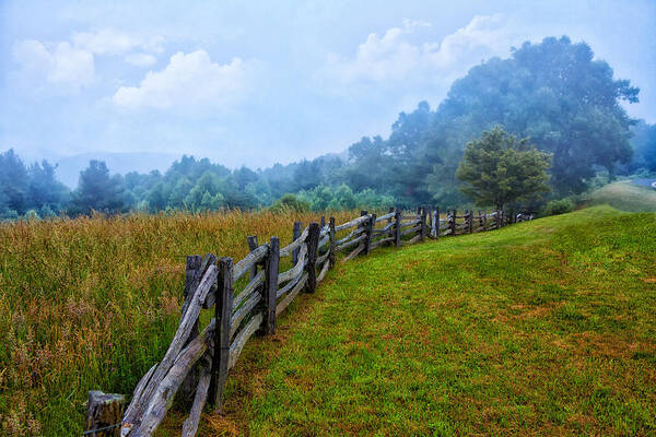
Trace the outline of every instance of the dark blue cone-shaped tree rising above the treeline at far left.
[[110, 176], [103, 161], [92, 160], [89, 167], [80, 172], [78, 189], [73, 191], [70, 213], [89, 214], [91, 211], [104, 213], [121, 212], [125, 206], [125, 192], [120, 175]]

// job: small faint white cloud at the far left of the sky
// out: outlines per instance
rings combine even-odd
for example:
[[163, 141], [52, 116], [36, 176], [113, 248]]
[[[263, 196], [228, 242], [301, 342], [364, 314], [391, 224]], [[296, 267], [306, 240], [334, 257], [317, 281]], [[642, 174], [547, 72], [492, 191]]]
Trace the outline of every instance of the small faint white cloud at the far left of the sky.
[[25, 79], [62, 85], [67, 91], [79, 91], [90, 85], [95, 78], [93, 55], [71, 46], [68, 42], [58, 43], [50, 49], [34, 39], [14, 45], [13, 56]]

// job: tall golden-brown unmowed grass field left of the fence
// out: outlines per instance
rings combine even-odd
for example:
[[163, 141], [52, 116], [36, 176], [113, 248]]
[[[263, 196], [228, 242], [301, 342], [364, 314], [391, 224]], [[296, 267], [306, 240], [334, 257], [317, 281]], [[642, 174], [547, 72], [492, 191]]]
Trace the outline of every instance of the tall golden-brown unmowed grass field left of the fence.
[[[336, 213], [338, 223], [358, 212]], [[235, 260], [316, 214], [0, 224], [0, 435], [81, 435], [87, 390], [131, 394], [179, 322], [185, 256]]]

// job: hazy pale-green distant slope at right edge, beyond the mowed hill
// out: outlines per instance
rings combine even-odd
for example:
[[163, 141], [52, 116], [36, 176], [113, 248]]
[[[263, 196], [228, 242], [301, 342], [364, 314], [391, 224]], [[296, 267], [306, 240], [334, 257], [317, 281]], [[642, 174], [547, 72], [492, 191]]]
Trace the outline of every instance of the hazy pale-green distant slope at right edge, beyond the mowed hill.
[[633, 184], [631, 180], [622, 180], [594, 191], [589, 204], [609, 204], [622, 211], [654, 212], [656, 190]]

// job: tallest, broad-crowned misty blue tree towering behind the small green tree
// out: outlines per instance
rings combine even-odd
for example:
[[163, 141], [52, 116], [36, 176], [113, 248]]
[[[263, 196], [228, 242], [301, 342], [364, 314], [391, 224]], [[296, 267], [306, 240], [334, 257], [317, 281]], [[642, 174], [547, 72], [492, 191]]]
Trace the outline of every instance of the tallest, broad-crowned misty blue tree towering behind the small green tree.
[[551, 184], [559, 193], [582, 192], [596, 167], [612, 174], [630, 162], [634, 121], [620, 102], [635, 103], [639, 94], [593, 58], [585, 43], [549, 37], [472, 68], [440, 106], [435, 144], [462, 144], [499, 123], [553, 154]]

